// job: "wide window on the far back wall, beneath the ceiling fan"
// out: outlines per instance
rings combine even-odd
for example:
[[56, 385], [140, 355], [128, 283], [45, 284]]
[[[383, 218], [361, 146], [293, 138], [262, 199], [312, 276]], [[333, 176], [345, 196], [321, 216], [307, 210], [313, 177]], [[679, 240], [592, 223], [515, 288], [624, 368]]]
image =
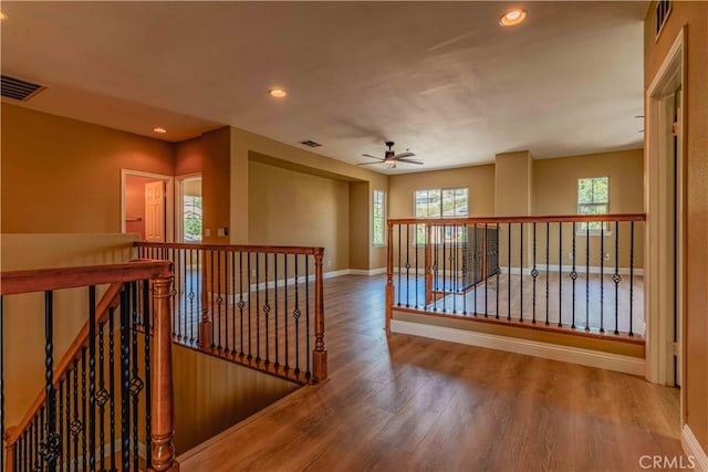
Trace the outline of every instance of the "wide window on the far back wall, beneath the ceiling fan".
[[[468, 214], [468, 189], [427, 189], [416, 190], [415, 216], [416, 218], [466, 218]], [[434, 242], [459, 241], [465, 237], [465, 231], [458, 228], [442, 228], [434, 233]], [[418, 224], [416, 230], [416, 243], [425, 243], [425, 225]]]

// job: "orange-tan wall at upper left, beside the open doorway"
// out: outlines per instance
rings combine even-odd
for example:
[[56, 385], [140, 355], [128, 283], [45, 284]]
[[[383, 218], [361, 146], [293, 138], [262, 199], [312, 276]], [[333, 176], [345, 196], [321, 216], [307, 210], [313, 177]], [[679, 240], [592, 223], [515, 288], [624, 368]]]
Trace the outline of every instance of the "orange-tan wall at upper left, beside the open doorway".
[[173, 145], [2, 104], [2, 231], [121, 231], [121, 169], [173, 175]]

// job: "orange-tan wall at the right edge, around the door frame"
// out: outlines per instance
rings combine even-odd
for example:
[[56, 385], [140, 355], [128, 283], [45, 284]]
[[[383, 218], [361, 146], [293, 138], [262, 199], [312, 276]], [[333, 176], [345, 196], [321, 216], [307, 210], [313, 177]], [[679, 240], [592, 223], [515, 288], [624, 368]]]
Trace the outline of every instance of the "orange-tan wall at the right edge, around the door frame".
[[644, 31], [644, 85], [654, 80], [680, 29], [686, 25], [684, 101], [686, 117], [686, 339], [684, 395], [686, 423], [708, 451], [708, 3], [673, 2], [658, 41], [655, 3]]

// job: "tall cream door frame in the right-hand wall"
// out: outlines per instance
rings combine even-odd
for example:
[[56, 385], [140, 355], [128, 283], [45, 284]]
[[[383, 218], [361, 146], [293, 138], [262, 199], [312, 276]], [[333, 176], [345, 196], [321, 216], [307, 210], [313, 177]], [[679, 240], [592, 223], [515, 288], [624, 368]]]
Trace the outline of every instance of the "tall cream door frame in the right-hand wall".
[[[684, 46], [685, 27], [677, 34], [674, 44], [666, 54], [662, 66], [646, 91], [646, 147], [645, 147], [645, 208], [647, 212], [647, 240], [645, 247], [646, 287], [645, 313], [647, 313], [646, 377], [649, 381], [674, 385], [674, 311], [677, 312], [679, 378], [685, 379], [685, 316], [686, 316], [686, 55]], [[673, 117], [673, 93], [681, 88], [680, 113], [677, 133], [676, 186], [667, 179], [674, 178], [673, 139], [669, 139]], [[673, 193], [673, 195], [671, 195]], [[674, 247], [665, 248], [656, 241], [666, 241], [666, 232], [674, 231], [670, 208], [676, 211], [676, 261], [673, 261]], [[673, 238], [673, 234], [671, 234]], [[652, 243], [655, 241], [655, 243]], [[670, 252], [670, 254], [669, 254]], [[676, 274], [676, 297], [674, 297], [674, 274]], [[676, 300], [677, 298], [677, 300]], [[681, 389], [681, 420], [684, 412], [684, 392]]]

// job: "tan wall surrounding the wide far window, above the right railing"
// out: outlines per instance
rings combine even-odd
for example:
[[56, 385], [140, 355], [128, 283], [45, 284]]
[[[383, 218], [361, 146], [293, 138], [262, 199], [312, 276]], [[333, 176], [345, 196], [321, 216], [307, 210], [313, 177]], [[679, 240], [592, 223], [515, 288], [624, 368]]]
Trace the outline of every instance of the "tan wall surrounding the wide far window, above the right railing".
[[389, 177], [388, 218], [413, 218], [416, 190], [469, 188], [470, 217], [494, 214], [494, 166], [461, 167]]

